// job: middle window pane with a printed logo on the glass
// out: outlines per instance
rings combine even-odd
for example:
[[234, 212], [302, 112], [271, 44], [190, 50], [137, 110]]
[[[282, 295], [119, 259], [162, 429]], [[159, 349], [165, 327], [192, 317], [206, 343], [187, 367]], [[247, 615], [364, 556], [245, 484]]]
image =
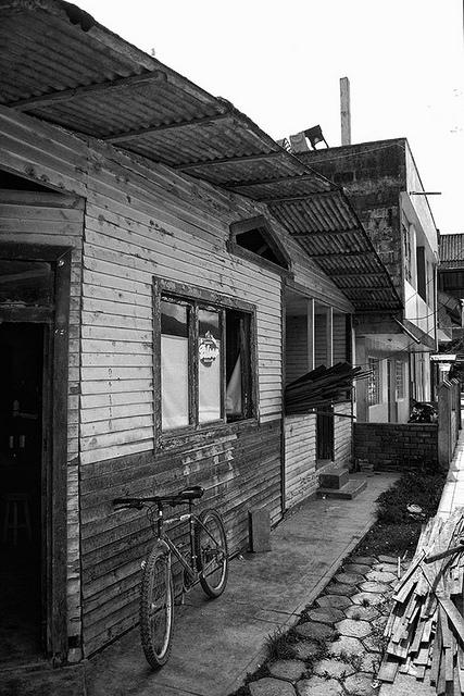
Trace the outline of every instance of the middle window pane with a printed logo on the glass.
[[221, 418], [221, 322], [218, 312], [198, 312], [199, 422]]

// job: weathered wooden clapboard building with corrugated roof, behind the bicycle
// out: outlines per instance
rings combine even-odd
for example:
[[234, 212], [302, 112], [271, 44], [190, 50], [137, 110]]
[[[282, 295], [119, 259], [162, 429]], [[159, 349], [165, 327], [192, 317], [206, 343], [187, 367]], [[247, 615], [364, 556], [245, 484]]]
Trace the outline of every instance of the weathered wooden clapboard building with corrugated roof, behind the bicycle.
[[112, 499], [200, 484], [246, 548], [252, 508], [316, 487], [286, 370], [347, 359], [349, 318], [398, 297], [342, 190], [75, 5], [2, 0], [0, 57], [1, 513], [29, 512], [1, 549], [60, 662], [137, 621], [150, 531]]

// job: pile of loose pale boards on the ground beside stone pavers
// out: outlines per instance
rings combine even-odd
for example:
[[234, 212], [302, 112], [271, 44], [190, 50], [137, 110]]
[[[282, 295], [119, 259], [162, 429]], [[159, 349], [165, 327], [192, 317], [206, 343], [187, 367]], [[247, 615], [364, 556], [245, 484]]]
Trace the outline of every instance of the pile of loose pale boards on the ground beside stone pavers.
[[423, 526], [392, 596], [380, 681], [393, 682], [403, 672], [427, 681], [439, 696], [464, 694], [463, 575], [464, 508], [459, 508]]

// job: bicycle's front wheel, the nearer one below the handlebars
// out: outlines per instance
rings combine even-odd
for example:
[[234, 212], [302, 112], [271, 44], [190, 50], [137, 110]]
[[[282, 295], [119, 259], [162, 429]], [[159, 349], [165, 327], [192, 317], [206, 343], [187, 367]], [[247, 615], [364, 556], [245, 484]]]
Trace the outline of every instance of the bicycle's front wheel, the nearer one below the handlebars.
[[147, 661], [159, 669], [172, 648], [174, 592], [168, 555], [155, 547], [147, 557], [140, 591], [140, 637]]

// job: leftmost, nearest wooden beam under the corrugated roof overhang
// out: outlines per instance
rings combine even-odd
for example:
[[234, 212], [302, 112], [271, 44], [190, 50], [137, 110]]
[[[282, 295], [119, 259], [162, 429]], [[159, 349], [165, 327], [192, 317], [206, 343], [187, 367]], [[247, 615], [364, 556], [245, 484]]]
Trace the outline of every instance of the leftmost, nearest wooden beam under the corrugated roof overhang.
[[126, 89], [127, 87], [134, 87], [137, 85], [143, 85], [150, 82], [166, 82], [167, 75], [160, 70], [152, 73], [143, 73], [143, 75], [131, 75], [130, 77], [121, 77], [121, 79], [113, 79], [111, 82], [100, 83], [98, 85], [86, 85], [83, 87], [76, 87], [75, 89], [62, 89], [61, 91], [54, 91], [41, 97], [30, 97], [29, 99], [20, 99], [13, 101], [8, 105], [16, 111], [28, 111], [36, 107], [48, 107], [57, 102], [70, 101], [86, 95], [102, 94], [109, 90]]

